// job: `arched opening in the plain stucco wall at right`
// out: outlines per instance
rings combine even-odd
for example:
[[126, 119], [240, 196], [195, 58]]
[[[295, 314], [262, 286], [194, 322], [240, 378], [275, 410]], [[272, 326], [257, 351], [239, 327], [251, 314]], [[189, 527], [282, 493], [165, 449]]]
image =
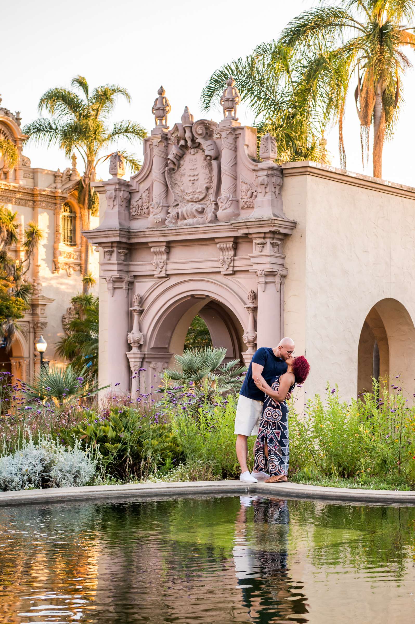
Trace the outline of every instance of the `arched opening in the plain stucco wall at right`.
[[[414, 392], [415, 327], [396, 299], [378, 301], [364, 319], [358, 347], [358, 394], [372, 389], [372, 378], [391, 379]], [[390, 385], [390, 382], [389, 382]]]

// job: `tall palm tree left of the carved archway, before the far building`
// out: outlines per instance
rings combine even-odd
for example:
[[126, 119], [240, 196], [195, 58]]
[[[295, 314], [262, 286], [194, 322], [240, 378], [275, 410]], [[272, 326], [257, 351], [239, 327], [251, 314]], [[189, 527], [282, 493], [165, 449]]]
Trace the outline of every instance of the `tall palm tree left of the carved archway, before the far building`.
[[[127, 89], [115, 84], [96, 87], [90, 93], [89, 84], [82, 76], [76, 76], [71, 82], [72, 90], [54, 87], [44, 93], [39, 100], [39, 112], [46, 110], [52, 119], [40, 118], [26, 125], [25, 134], [29, 140], [58, 145], [67, 158], [76, 151], [84, 162], [84, 174], [79, 181], [78, 203], [81, 207], [82, 229], [89, 229], [90, 214], [97, 213], [98, 200], [90, 183], [95, 179], [95, 170], [100, 162], [110, 157], [102, 155], [118, 139], [132, 142], [143, 140], [147, 132], [137, 122], [123, 120], [111, 128], [107, 124], [110, 113], [114, 110], [118, 96], [130, 102]], [[137, 171], [140, 163], [132, 154], [124, 154], [132, 170]], [[82, 236], [83, 275], [88, 273], [88, 241]], [[86, 291], [86, 285], [84, 285]]]

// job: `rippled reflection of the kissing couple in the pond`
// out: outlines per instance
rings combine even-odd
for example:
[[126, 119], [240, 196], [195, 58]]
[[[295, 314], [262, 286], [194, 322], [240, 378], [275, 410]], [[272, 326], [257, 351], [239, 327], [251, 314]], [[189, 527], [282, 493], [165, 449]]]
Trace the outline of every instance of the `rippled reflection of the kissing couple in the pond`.
[[[253, 532], [247, 536], [247, 507], [253, 505]], [[241, 497], [233, 550], [243, 606], [252, 622], [308, 622], [306, 597], [287, 567], [290, 514], [286, 500]], [[275, 530], [270, 530], [270, 525]]]

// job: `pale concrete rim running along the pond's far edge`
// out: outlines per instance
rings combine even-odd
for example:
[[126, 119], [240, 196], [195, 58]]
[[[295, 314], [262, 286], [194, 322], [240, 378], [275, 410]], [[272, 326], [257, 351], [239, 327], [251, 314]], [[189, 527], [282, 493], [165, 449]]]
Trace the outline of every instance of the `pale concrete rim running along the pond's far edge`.
[[415, 505], [415, 492], [398, 490], [354, 490], [346, 487], [321, 487], [298, 483], [266, 484], [251, 486], [239, 480], [196, 481], [183, 483], [140, 483], [134, 485], [89, 485], [87, 487], [61, 487], [48, 490], [24, 490], [0, 492], [0, 506], [26, 503], [67, 502], [90, 499], [140, 499], [158, 496], [182, 496], [192, 494], [249, 494], [279, 496], [282, 498], [320, 499], [366, 504]]

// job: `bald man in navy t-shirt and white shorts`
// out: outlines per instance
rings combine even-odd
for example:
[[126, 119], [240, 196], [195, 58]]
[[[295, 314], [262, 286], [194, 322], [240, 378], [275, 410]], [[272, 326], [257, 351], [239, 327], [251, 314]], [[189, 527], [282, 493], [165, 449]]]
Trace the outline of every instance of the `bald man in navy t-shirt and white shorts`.
[[[248, 436], [258, 433], [264, 393], [256, 388], [253, 378], [259, 378], [261, 383], [277, 375], [286, 373], [285, 360], [294, 353], [295, 344], [291, 338], [283, 338], [277, 347], [261, 347], [253, 354], [247, 375], [239, 394], [237, 414], [235, 416], [235, 434], [237, 434], [237, 457], [241, 467], [240, 480], [245, 483], [256, 483], [258, 480], [268, 479], [265, 472], [250, 474], [247, 466]], [[290, 394], [287, 394], [287, 398]]]

